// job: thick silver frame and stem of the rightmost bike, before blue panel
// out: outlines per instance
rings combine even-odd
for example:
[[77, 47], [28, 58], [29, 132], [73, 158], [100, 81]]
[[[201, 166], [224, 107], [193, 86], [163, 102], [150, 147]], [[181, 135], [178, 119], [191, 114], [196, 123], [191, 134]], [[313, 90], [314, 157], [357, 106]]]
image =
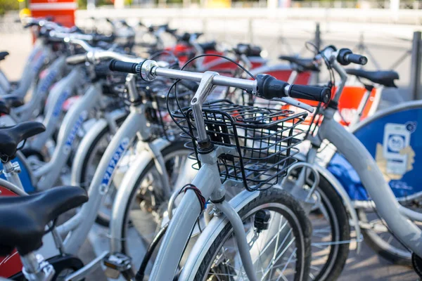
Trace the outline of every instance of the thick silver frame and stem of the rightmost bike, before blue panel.
[[[327, 55], [330, 58], [329, 55]], [[338, 101], [345, 86], [347, 74], [337, 61], [332, 62], [333, 68], [342, 79], [338, 86], [334, 101]], [[378, 213], [388, 224], [392, 233], [411, 251], [418, 256], [422, 255], [422, 230], [411, 220], [422, 221], [422, 214], [407, 209], [399, 204], [388, 183], [385, 182], [382, 172], [378, 168], [371, 154], [364, 145], [347, 129], [335, 122], [335, 109], [327, 107], [323, 110], [324, 119], [319, 126], [315, 137], [310, 138], [312, 145], [319, 147], [324, 139], [333, 143], [338, 152], [352, 165], [359, 175], [364, 188], [368, 191], [376, 204]], [[307, 162], [314, 164], [316, 148], [311, 148], [307, 155]]]

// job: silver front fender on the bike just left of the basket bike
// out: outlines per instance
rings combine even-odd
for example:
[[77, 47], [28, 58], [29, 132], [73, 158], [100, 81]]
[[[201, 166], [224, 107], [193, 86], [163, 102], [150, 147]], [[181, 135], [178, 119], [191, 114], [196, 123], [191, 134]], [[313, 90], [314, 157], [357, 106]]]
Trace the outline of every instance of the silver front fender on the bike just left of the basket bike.
[[[154, 145], [160, 151], [171, 145], [169, 141], [159, 138], [155, 140]], [[141, 173], [146, 168], [149, 162], [153, 161], [153, 155], [148, 150], [143, 150], [137, 155], [136, 160], [130, 164], [129, 170], [124, 174], [122, 183], [117, 188], [117, 194], [115, 197], [115, 203], [113, 204], [113, 210], [110, 219], [110, 251], [120, 252], [122, 251], [122, 227], [124, 220], [124, 211], [127, 204], [129, 204], [130, 195], [132, 188], [134, 188], [136, 181], [138, 180]]]

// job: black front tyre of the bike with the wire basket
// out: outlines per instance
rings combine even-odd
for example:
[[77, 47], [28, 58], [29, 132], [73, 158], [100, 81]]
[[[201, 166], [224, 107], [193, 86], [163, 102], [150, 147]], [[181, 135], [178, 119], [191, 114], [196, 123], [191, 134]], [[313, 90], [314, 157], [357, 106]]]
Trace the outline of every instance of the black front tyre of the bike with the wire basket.
[[[260, 195], [246, 204], [245, 207], [243, 207], [238, 212], [238, 214], [242, 219], [245, 219], [250, 215], [251, 212], [255, 210], [260, 208], [276, 209], [277, 206], [279, 208], [278, 211], [280, 214], [283, 214], [286, 220], [290, 223], [290, 226], [293, 229], [293, 235], [295, 235], [295, 240], [300, 241], [298, 244], [298, 251], [295, 253], [296, 260], [302, 262], [297, 263], [295, 266], [295, 270], [296, 272], [299, 272], [299, 274], [295, 274], [294, 280], [305, 280], [303, 277], [309, 275], [309, 266], [311, 261], [310, 236], [312, 234], [312, 226], [309, 218], [305, 214], [305, 211], [302, 209], [302, 207], [300, 207], [300, 203], [297, 200], [295, 200], [288, 192], [284, 190], [280, 190], [278, 188], [269, 188], [268, 190], [261, 191]], [[284, 209], [281, 209], [281, 207]], [[202, 249], [202, 251], [205, 251], [206, 254], [203, 261], [200, 263], [194, 280], [207, 280], [209, 277], [208, 271], [210, 270], [210, 267], [215, 260], [215, 256], [217, 256], [217, 252], [221, 248], [221, 245], [224, 243], [226, 238], [231, 234], [231, 231], [231, 225], [227, 223], [221, 232], [216, 236], [214, 242], [210, 244], [210, 247], [207, 249]], [[219, 278], [219, 280], [221, 279]]]

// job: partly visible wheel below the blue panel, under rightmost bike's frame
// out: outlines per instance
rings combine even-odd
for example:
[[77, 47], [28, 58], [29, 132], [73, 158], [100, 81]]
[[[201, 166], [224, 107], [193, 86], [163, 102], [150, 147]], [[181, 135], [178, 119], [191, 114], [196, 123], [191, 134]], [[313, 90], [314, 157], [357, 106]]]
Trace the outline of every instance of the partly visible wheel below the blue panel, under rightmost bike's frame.
[[[357, 212], [365, 243], [377, 254], [392, 263], [411, 266], [411, 251], [404, 247], [387, 228], [387, 223], [376, 214], [374, 209], [359, 209]], [[416, 222], [415, 222], [416, 223]], [[419, 227], [421, 224], [416, 223]]]

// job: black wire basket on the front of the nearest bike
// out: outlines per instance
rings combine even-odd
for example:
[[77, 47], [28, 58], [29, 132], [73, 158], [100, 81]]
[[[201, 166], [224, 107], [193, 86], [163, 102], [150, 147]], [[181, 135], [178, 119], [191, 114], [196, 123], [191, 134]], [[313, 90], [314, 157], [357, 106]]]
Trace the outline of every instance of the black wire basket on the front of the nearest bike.
[[[173, 112], [179, 125], [191, 138], [186, 146], [194, 150], [193, 165], [199, 169], [196, 143], [196, 124], [191, 107]], [[203, 105], [203, 118], [210, 141], [214, 145], [236, 148], [236, 155], [219, 156], [219, 173], [222, 181], [243, 181], [249, 190], [264, 190], [279, 183], [289, 166], [295, 163], [296, 145], [304, 133], [298, 125], [307, 113], [295, 114], [290, 110], [277, 110], [249, 105], [237, 105], [229, 100], [213, 100]]]

